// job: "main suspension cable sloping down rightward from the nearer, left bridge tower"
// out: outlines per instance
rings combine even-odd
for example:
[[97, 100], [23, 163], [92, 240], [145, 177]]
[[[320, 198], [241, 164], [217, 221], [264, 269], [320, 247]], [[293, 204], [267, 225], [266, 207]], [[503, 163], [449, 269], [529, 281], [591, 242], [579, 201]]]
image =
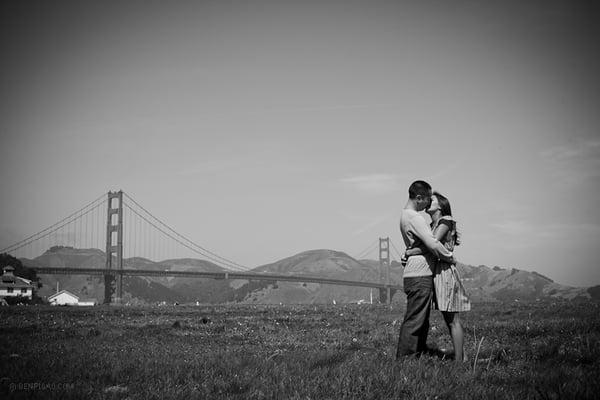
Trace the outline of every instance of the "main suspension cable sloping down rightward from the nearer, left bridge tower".
[[[238, 271], [247, 271], [250, 269], [246, 266], [236, 263], [235, 261], [232, 261], [225, 257], [222, 257], [222, 256], [200, 246], [199, 244], [193, 242], [192, 240], [190, 240], [187, 237], [183, 236], [182, 234], [178, 233], [173, 228], [171, 228], [169, 225], [167, 225], [166, 223], [164, 223], [163, 221], [158, 219], [156, 216], [154, 216], [151, 212], [146, 210], [142, 205], [140, 205], [137, 201], [135, 201], [127, 193], [123, 193], [123, 195], [125, 196], [125, 198], [127, 200], [131, 201], [135, 206], [137, 206], [140, 210], [142, 210], [148, 216], [148, 218], [143, 216], [141, 214], [141, 212], [138, 212], [134, 208], [129, 206], [127, 204], [127, 202], [124, 202], [124, 206], [126, 209], [128, 209], [130, 212], [134, 213], [139, 218], [143, 219], [146, 223], [150, 224], [153, 228], [157, 229], [158, 231], [160, 231], [161, 233], [163, 233], [170, 239], [174, 240], [175, 242], [179, 243], [180, 245], [186, 247], [187, 249], [193, 251], [196, 254], [199, 254], [205, 258], [210, 259], [211, 261], [215, 262], [216, 264], [218, 264], [220, 266], [225, 266], [229, 269], [238, 270]], [[154, 222], [152, 222], [150, 219], [154, 220]]]

